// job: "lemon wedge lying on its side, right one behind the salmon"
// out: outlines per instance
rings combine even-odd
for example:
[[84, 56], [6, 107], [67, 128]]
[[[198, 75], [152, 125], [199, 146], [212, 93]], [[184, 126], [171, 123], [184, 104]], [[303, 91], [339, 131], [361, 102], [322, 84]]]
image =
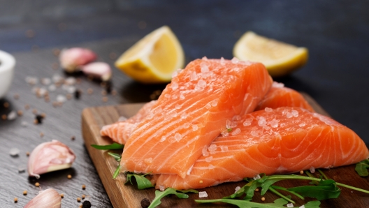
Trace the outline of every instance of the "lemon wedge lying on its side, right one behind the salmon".
[[305, 65], [307, 49], [247, 31], [234, 45], [233, 56], [242, 61], [261, 62], [272, 77], [281, 77]]

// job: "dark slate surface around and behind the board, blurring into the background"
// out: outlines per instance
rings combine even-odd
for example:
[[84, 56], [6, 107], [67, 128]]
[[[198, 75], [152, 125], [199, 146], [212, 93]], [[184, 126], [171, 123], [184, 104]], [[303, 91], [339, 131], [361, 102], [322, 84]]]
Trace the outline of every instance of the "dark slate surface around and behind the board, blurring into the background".
[[[63, 207], [78, 207], [76, 198], [82, 194], [89, 196], [94, 207], [111, 207], [82, 142], [80, 112], [89, 106], [150, 101], [152, 91], [165, 85], [138, 84], [114, 68], [117, 96], [108, 95], [108, 102], [103, 103], [103, 88], [82, 76], [81, 84], [76, 85], [85, 91], [80, 100], [55, 108], [51, 102], [65, 91], [58, 89], [50, 94], [50, 103], [45, 103], [31, 93], [24, 79], [52, 77], [55, 73], [67, 76], [60, 69], [52, 69], [57, 63], [54, 48], [90, 47], [99, 54], [100, 61], [113, 67], [111, 52], [121, 54], [164, 24], [178, 36], [187, 62], [203, 56], [231, 59], [234, 43], [249, 30], [307, 47], [307, 65], [278, 81], [310, 94], [333, 118], [369, 142], [368, 1], [0, 0], [0, 4], [0, 50], [17, 59], [13, 85], [0, 100], [0, 114], [11, 109], [24, 112], [13, 121], [0, 120], [1, 207], [23, 207], [37, 194], [40, 188], [34, 186], [34, 179], [18, 173], [17, 168], [27, 167], [26, 151], [52, 139], [68, 144], [77, 160], [69, 170], [43, 175], [38, 180], [41, 187], [64, 193]], [[94, 89], [93, 95], [87, 95], [88, 88]], [[13, 98], [14, 94], [20, 95], [19, 100]], [[3, 107], [4, 102], [10, 107]], [[25, 104], [31, 109], [24, 110]], [[34, 108], [46, 114], [45, 122], [38, 126], [32, 124]], [[22, 121], [29, 125], [22, 127]], [[8, 154], [13, 147], [20, 149], [20, 156]], [[67, 174], [73, 178], [67, 179]], [[82, 184], [87, 186], [85, 191]], [[22, 195], [24, 190], [28, 191], [26, 196]], [[17, 204], [14, 197], [18, 198]]]

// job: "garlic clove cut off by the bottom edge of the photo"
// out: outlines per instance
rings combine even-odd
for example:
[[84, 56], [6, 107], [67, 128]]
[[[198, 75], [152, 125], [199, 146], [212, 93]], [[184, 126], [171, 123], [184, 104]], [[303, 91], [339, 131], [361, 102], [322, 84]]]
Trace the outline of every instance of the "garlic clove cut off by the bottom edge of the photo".
[[60, 208], [61, 197], [57, 191], [48, 188], [40, 191], [24, 208]]

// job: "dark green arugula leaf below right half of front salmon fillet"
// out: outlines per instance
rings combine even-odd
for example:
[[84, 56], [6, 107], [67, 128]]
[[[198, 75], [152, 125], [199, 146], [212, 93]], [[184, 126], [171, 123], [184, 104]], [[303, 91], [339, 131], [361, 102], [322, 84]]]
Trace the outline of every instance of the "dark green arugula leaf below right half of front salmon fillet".
[[287, 190], [295, 191], [305, 197], [317, 198], [317, 200], [338, 198], [341, 193], [333, 180], [321, 180], [317, 186], [298, 186]]

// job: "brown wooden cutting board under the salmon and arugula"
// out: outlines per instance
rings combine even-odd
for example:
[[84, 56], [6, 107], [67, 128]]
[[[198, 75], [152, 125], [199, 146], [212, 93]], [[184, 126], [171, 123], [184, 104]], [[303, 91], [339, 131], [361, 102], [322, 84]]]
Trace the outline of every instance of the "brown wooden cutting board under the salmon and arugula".
[[[310, 96], [303, 94], [307, 101], [314, 107], [314, 110], [320, 114], [328, 115]], [[144, 198], [150, 201], [154, 199], [154, 188], [147, 188], [145, 190], [138, 190], [136, 186], [131, 184], [124, 184], [126, 181], [124, 174], [120, 174], [116, 179], [112, 179], [113, 173], [117, 168], [118, 163], [115, 159], [109, 156], [108, 151], [102, 151], [94, 149], [91, 144], [106, 145], [111, 144], [110, 138], [101, 137], [99, 131], [101, 127], [106, 124], [112, 124], [118, 120], [119, 117], [131, 117], [133, 114], [142, 107], [143, 103], [125, 104], [116, 106], [103, 106], [103, 107], [89, 107], [82, 112], [82, 135], [85, 140], [85, 145], [89, 151], [94, 162], [95, 168], [99, 173], [99, 177], [103, 182], [103, 186], [109, 195], [109, 198], [115, 208], [118, 207], [141, 207], [140, 202]], [[119, 151], [115, 151], [119, 153]], [[369, 190], [369, 177], [359, 177], [354, 170], [354, 165], [348, 165], [340, 168], [332, 168], [330, 170], [324, 170], [324, 173], [331, 179], [338, 181], [342, 184], [355, 186]], [[308, 181], [280, 181], [277, 183], [279, 186], [292, 187], [307, 185]], [[201, 199], [217, 199], [226, 195], [234, 193], [236, 186], [244, 186], [245, 182], [233, 182], [220, 184], [209, 188], [202, 188], [198, 191], [206, 191], [208, 198]], [[263, 195], [266, 198], [265, 202], [273, 202], [278, 197], [273, 193], [266, 193]], [[199, 205], [194, 202], [198, 199], [198, 194], [190, 193], [188, 199], [179, 199], [175, 195], [164, 198], [159, 207], [235, 207], [233, 205], [226, 204], [202, 204]], [[296, 206], [301, 206], [307, 201], [313, 200], [311, 198], [305, 198], [305, 202], [298, 198], [293, 198], [296, 201]], [[253, 198], [254, 202], [261, 202], [261, 195], [256, 192]], [[361, 193], [359, 191], [352, 191], [348, 188], [342, 188], [341, 195], [338, 199], [323, 200], [321, 201], [321, 207], [368, 207], [369, 206], [369, 194]]]

